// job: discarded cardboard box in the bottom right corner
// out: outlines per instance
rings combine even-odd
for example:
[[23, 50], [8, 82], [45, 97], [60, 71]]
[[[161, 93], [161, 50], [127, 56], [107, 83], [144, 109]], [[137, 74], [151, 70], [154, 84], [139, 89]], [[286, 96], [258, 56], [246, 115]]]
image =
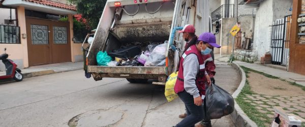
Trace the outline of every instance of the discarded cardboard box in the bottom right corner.
[[[296, 116], [294, 114], [287, 114], [282, 107], [275, 107], [275, 116], [273, 117], [273, 121], [271, 126], [280, 126], [280, 127], [301, 127], [302, 122], [304, 119]], [[278, 118], [277, 118], [278, 117]], [[280, 119], [280, 124], [275, 122], [275, 119]]]

